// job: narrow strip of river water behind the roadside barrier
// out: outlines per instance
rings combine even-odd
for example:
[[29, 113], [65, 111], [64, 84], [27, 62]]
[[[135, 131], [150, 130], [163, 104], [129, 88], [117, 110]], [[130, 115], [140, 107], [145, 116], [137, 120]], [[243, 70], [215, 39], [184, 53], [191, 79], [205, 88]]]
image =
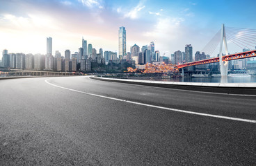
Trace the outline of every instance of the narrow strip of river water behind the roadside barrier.
[[131, 77], [131, 79], [166, 82], [256, 83], [256, 77], [179, 77], [170, 79], [161, 79], [159, 77]]

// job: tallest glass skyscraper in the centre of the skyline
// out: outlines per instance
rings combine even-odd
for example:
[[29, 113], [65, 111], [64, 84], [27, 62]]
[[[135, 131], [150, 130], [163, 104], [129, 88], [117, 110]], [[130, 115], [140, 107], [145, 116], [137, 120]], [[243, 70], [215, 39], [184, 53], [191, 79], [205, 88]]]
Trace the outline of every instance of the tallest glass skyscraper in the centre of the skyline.
[[122, 59], [126, 53], [126, 30], [125, 27], [120, 27], [118, 31], [118, 50], [119, 59]]

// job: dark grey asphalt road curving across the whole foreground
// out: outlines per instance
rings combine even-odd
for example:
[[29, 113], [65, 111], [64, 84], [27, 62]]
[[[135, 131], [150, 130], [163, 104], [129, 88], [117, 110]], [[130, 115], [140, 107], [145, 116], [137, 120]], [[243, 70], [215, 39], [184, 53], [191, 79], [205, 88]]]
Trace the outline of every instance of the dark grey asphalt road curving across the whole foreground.
[[256, 97], [89, 77], [0, 87], [0, 165], [256, 165]]

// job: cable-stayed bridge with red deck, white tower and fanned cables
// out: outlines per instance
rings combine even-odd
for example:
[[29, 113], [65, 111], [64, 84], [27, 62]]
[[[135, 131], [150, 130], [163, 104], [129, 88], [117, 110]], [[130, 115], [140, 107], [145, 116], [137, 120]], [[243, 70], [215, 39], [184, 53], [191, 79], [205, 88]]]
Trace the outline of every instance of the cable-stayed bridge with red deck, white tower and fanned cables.
[[[229, 54], [227, 50], [227, 41], [247, 51]], [[207, 53], [207, 55], [212, 55], [216, 50], [217, 46], [220, 46], [218, 57], [179, 64], [175, 66], [175, 68], [182, 68], [183, 70], [183, 68], [189, 66], [219, 62], [221, 77], [227, 77], [229, 61], [256, 57], [256, 30], [249, 28], [225, 27], [223, 24], [221, 30], [219, 30], [218, 33], [216, 33], [216, 35], [211, 39], [211, 41], [205, 46], [205, 48], [203, 48], [203, 51]], [[225, 52], [225, 55], [223, 55], [223, 51]]]

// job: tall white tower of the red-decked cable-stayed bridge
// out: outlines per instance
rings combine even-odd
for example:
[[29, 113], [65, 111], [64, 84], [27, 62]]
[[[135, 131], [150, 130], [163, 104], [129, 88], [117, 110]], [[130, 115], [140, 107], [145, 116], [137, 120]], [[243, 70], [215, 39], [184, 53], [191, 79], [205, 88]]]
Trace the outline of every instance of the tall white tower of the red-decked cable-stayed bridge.
[[228, 51], [227, 51], [227, 38], [226, 38], [224, 24], [222, 25], [222, 28], [221, 28], [221, 44], [220, 44], [219, 57], [220, 57], [221, 77], [227, 77], [228, 61], [225, 61], [225, 62], [222, 61], [222, 47], [223, 47], [223, 43], [224, 43], [224, 46], [225, 46], [225, 55], [228, 55]]

